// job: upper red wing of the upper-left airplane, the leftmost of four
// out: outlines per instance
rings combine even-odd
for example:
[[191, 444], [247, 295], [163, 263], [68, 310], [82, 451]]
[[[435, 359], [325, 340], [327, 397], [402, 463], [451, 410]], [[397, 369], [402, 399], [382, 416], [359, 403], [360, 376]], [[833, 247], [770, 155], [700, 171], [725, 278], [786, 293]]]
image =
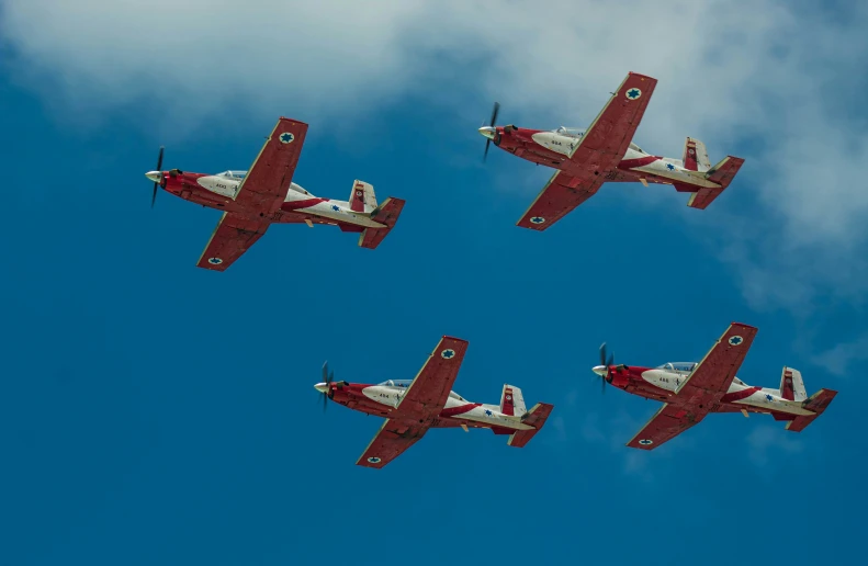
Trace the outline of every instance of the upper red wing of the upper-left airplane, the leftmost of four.
[[280, 208], [290, 190], [306, 134], [307, 124], [281, 117], [247, 172], [235, 201], [266, 215]]

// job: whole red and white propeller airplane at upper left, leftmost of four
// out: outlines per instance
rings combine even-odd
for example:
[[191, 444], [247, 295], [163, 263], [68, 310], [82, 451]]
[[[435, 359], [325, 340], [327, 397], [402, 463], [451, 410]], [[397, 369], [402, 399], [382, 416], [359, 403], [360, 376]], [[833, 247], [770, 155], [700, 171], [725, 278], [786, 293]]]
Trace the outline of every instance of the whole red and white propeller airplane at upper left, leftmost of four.
[[185, 201], [223, 211], [196, 263], [214, 271], [225, 271], [278, 223], [337, 226], [361, 233], [360, 247], [376, 248], [395, 227], [405, 201], [390, 197], [377, 205], [374, 188], [358, 180], [349, 201], [320, 199], [292, 182], [306, 134], [307, 124], [281, 117], [249, 171], [217, 174], [162, 171], [160, 147], [157, 169], [145, 173], [154, 181], [150, 206], [160, 186]]

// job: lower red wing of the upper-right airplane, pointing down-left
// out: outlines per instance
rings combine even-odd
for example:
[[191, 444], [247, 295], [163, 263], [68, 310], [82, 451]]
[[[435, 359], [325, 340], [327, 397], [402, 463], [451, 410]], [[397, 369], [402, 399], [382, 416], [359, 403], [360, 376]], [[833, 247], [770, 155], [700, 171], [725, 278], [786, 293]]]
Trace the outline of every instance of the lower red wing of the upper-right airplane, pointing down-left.
[[516, 226], [542, 231], [594, 196], [601, 184], [602, 177], [584, 180], [555, 171]]

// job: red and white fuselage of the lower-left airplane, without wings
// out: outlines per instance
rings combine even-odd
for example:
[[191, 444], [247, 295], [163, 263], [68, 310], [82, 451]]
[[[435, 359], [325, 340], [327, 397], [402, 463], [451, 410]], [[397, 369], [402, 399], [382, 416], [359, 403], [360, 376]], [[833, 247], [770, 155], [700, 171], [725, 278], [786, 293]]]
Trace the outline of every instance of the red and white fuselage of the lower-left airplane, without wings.
[[[361, 383], [331, 382], [318, 384], [328, 397], [361, 412], [385, 418], [415, 419], [415, 415], [401, 411], [401, 399], [407, 392], [409, 382], [383, 382], [377, 385]], [[326, 389], [327, 387], [327, 389]], [[471, 403], [454, 392], [450, 392], [446, 406], [435, 418], [431, 427], [486, 428], [496, 434], [511, 434], [516, 430], [532, 430], [533, 427], [521, 422], [520, 417], [504, 415], [498, 405]]]

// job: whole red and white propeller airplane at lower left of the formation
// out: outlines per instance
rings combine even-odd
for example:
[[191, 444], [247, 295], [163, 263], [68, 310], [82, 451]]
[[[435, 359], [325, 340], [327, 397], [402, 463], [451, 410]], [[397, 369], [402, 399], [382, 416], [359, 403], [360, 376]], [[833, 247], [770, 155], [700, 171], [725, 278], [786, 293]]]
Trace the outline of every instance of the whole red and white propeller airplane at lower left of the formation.
[[466, 340], [444, 336], [414, 380], [376, 385], [336, 382], [328, 362], [323, 365], [323, 382], [314, 387], [324, 395], [324, 409], [331, 399], [386, 419], [357, 465], [381, 468], [432, 428], [491, 429], [508, 434], [507, 444], [516, 448], [525, 446], [542, 429], [554, 407], [538, 403], [526, 410], [521, 389], [514, 385], [504, 385], [499, 406], [471, 403], [451, 390], [466, 350]]

